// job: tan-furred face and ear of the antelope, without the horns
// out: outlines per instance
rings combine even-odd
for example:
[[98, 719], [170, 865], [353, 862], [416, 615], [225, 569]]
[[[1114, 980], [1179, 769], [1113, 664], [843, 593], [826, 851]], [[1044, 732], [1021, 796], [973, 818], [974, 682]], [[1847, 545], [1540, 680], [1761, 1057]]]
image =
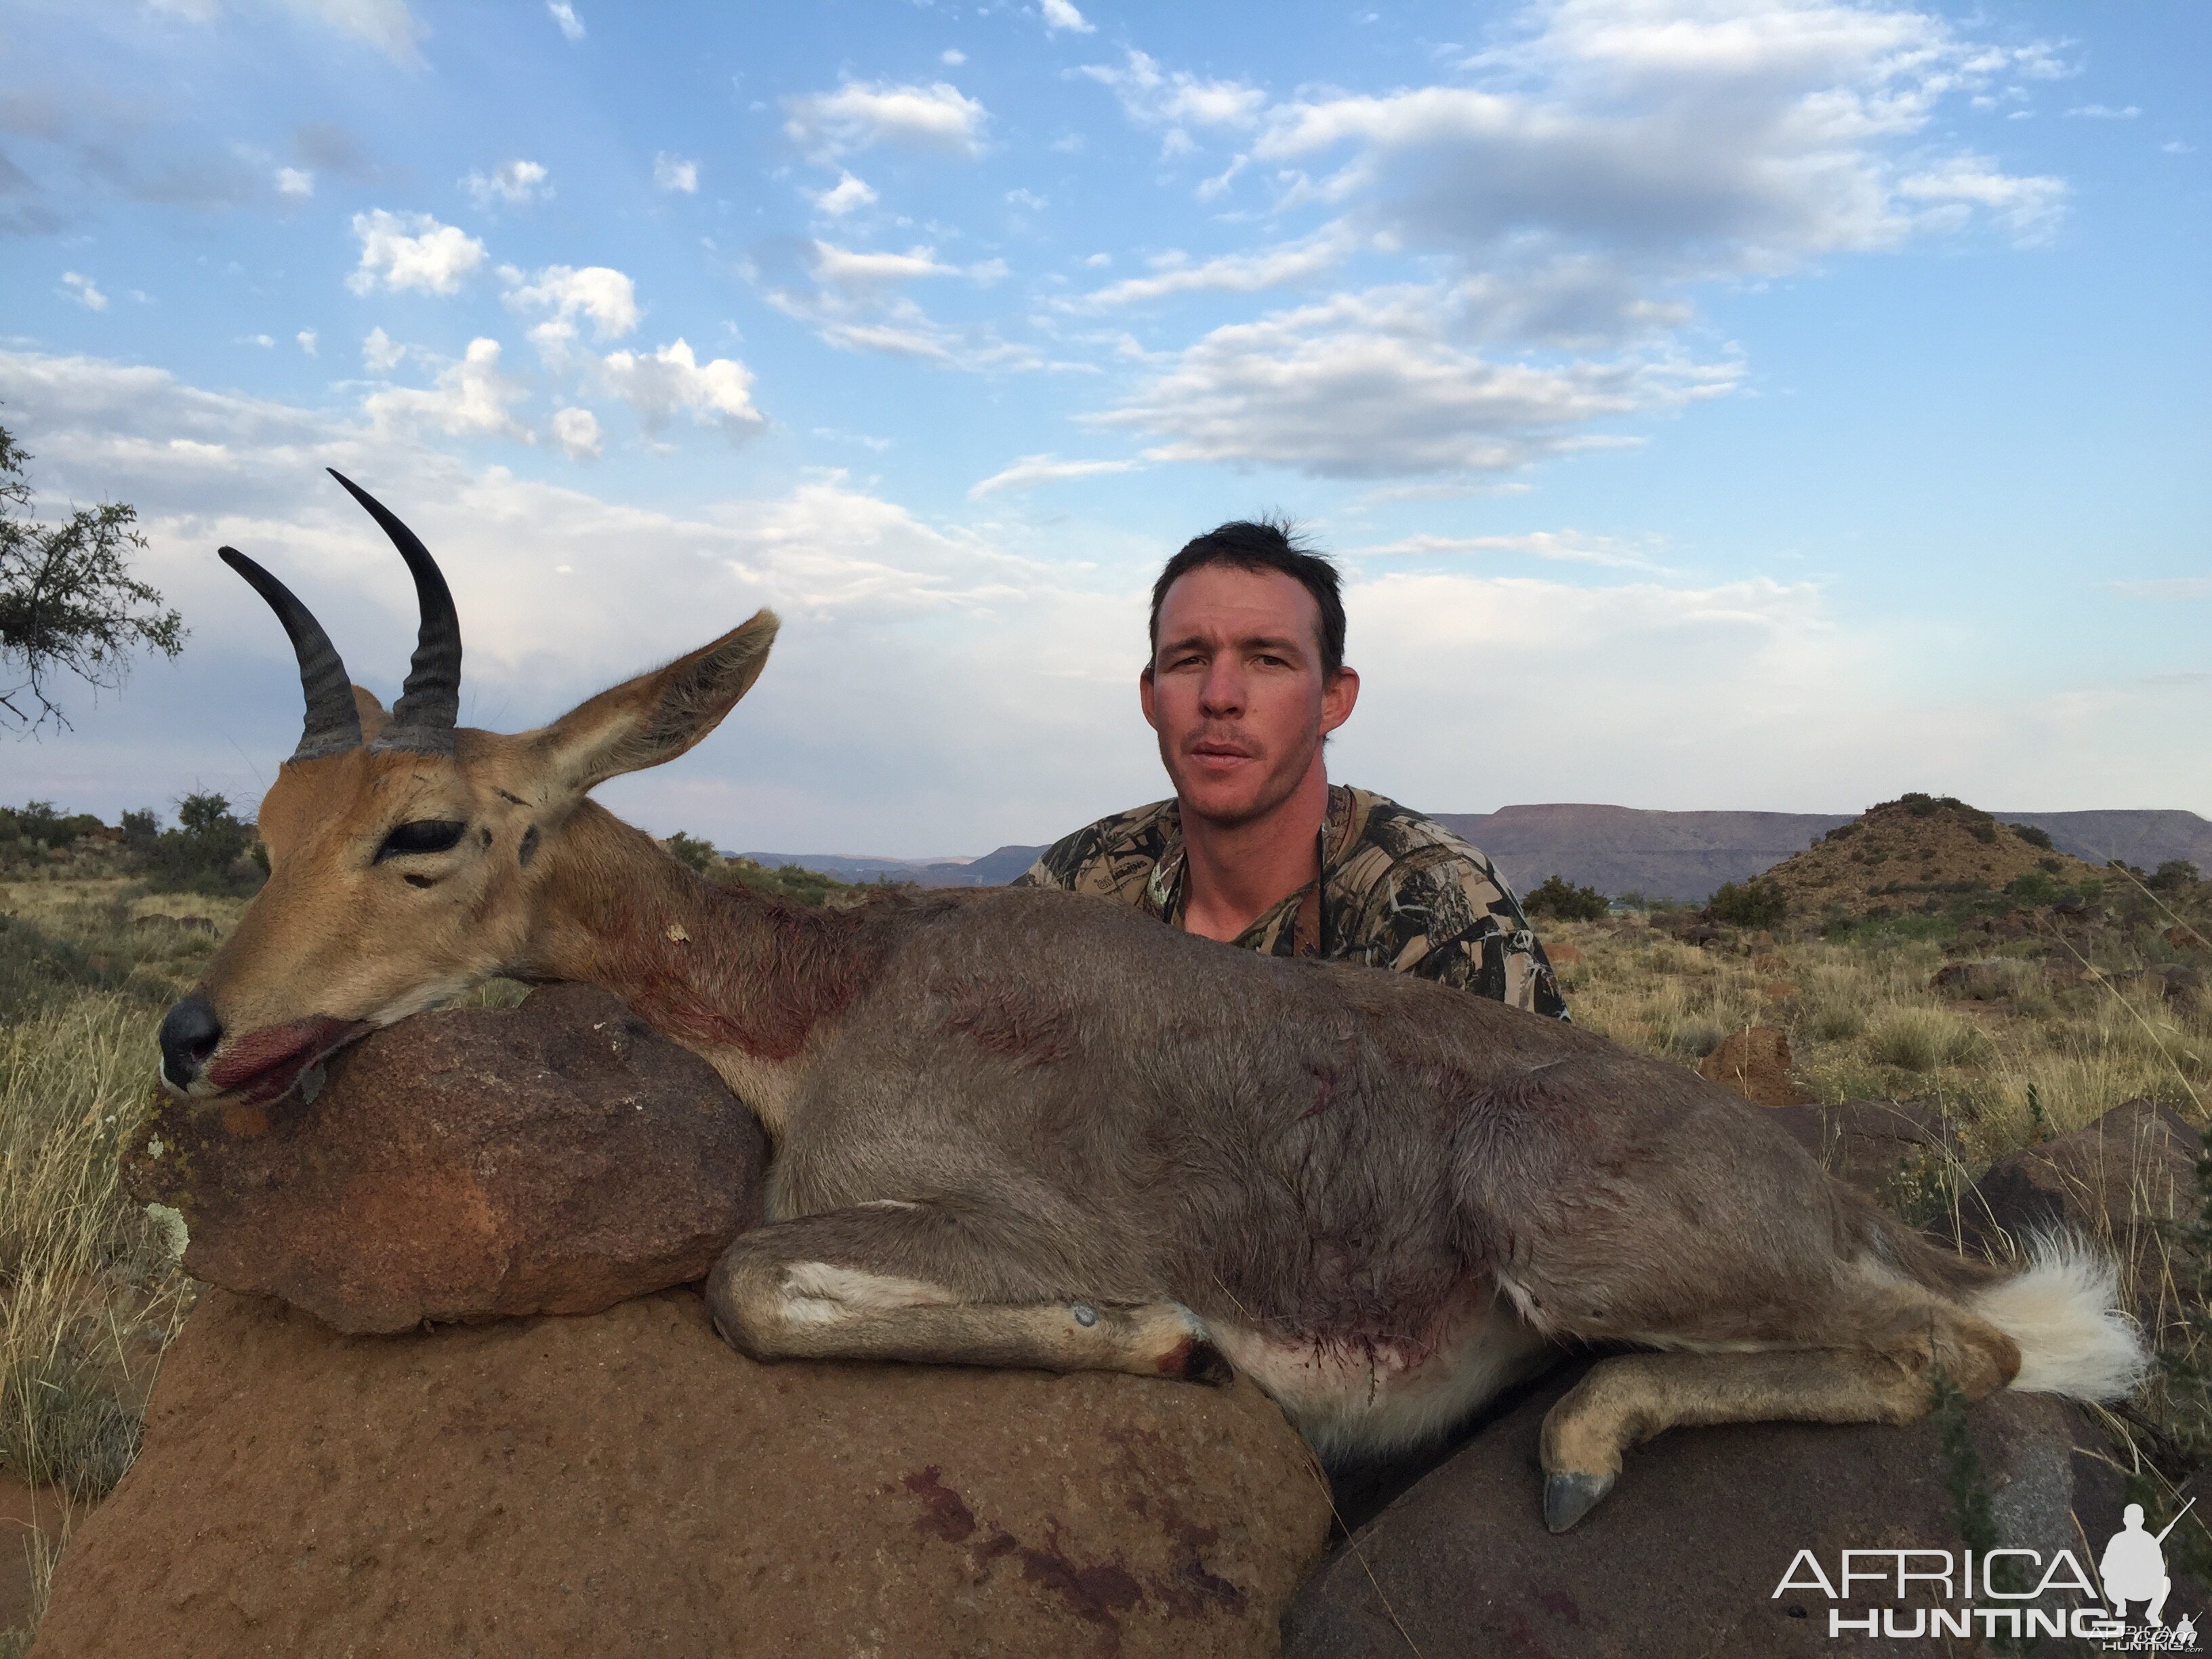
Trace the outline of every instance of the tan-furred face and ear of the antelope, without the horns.
[[265, 1099], [361, 1031], [522, 971], [544, 883], [577, 878], [549, 854], [588, 790], [712, 732], [774, 633], [761, 611], [542, 730], [456, 730], [451, 754], [374, 748], [385, 710], [356, 688], [363, 745], [288, 761], [261, 801], [270, 880], [195, 987], [221, 1037], [184, 1093]]

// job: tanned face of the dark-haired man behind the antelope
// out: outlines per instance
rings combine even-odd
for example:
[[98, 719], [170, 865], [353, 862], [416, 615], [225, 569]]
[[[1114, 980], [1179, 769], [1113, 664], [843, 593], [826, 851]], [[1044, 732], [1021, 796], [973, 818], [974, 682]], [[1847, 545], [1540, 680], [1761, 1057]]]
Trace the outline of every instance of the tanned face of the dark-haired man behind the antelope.
[[1230, 825], [1272, 812], [1321, 765], [1358, 684], [1349, 668], [1323, 679], [1305, 584], [1210, 564], [1168, 588], [1137, 695], [1183, 810]]

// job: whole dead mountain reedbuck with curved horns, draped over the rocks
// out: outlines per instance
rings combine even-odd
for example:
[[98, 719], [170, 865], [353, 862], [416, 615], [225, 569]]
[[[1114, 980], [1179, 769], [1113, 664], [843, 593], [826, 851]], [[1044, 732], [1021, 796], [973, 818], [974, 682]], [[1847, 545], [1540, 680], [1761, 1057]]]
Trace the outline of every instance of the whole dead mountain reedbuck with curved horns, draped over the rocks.
[[314, 617], [307, 723], [261, 803], [270, 880], [161, 1024], [173, 1091], [270, 1102], [493, 975], [584, 980], [703, 1055], [774, 1141], [768, 1223], [708, 1281], [757, 1358], [1110, 1369], [1263, 1387], [1323, 1455], [1442, 1433], [1562, 1347], [1621, 1345], [1544, 1420], [1559, 1531], [1677, 1425], [1911, 1422], [2126, 1394], [2088, 1245], [1940, 1250], [1690, 1071], [1369, 967], [1225, 949], [1042, 889], [801, 909], [714, 887], [588, 799], [701, 741], [768, 611], [551, 726], [456, 728], [422, 544], [385, 714]]

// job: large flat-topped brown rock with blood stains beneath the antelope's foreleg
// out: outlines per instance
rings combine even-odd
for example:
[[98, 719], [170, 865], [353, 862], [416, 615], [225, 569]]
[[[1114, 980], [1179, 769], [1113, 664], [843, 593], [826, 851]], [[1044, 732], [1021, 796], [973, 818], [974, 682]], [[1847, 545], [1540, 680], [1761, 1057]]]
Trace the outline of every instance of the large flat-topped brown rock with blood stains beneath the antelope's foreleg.
[[1248, 1383], [754, 1365], [688, 1290], [385, 1338], [210, 1290], [38, 1659], [1272, 1655], [1327, 1520]]

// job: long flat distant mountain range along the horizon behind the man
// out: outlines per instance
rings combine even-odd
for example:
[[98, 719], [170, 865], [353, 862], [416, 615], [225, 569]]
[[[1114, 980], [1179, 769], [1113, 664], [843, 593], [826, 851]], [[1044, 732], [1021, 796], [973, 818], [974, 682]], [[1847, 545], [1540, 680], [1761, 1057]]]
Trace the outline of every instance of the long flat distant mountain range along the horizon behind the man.
[[[1559, 874], [1601, 894], [1646, 894], [1703, 902], [1723, 880], [1747, 880], [1856, 812], [1644, 812], [1582, 803], [1520, 805], [1498, 812], [1438, 812], [1436, 821], [1491, 856], [1515, 891]], [[2051, 832], [2059, 852], [2106, 863], [2126, 858], [2157, 869], [2188, 858], [2212, 876], [2212, 821], [2194, 812], [1995, 812], [2004, 823]], [[763, 865], [803, 865], [838, 880], [911, 880], [922, 887], [1000, 887], [1044, 847], [1000, 847], [967, 863], [849, 858], [814, 852], [748, 852]]]

